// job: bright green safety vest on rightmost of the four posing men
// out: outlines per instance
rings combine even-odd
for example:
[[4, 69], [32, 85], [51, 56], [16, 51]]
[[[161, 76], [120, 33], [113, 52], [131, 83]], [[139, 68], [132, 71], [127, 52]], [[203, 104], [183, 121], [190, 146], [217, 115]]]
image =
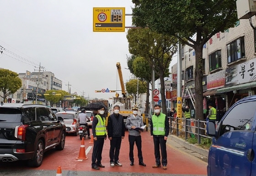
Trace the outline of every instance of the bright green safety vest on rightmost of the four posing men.
[[165, 114], [152, 115], [153, 135], [165, 135]]

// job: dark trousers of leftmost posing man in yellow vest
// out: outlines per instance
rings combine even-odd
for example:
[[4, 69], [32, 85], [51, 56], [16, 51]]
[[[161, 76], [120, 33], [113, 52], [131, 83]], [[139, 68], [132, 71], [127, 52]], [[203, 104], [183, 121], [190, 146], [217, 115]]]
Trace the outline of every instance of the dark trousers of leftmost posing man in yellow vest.
[[[102, 149], [104, 145], [104, 138], [97, 137], [97, 140], [94, 140], [93, 142], [93, 150], [92, 150], [92, 156], [91, 156], [91, 166], [99, 165], [101, 164], [101, 154], [102, 154]], [[97, 160], [97, 161], [96, 161]]]

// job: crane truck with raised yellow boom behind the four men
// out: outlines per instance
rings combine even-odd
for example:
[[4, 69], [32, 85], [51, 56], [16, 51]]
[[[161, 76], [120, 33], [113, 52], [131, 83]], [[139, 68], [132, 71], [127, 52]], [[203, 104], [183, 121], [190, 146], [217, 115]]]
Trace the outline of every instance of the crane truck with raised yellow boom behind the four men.
[[[119, 97], [119, 94], [116, 93], [116, 97], [113, 98], [112, 106], [114, 106], [115, 104], [118, 104], [118, 105], [121, 104], [119, 114], [123, 115], [124, 123], [126, 123], [128, 116], [133, 114], [133, 111], [131, 109], [132, 105], [133, 105], [131, 103], [132, 98], [128, 97], [126, 94], [124, 83], [123, 83], [123, 74], [122, 74], [120, 62], [117, 62], [116, 66], [117, 66], [117, 72], [118, 72], [118, 76], [119, 76], [119, 80], [120, 80], [120, 84], [121, 84], [122, 97]], [[110, 114], [113, 114], [113, 112], [114, 112], [113, 108], [111, 108]], [[138, 110], [138, 115], [141, 116], [140, 109]]]

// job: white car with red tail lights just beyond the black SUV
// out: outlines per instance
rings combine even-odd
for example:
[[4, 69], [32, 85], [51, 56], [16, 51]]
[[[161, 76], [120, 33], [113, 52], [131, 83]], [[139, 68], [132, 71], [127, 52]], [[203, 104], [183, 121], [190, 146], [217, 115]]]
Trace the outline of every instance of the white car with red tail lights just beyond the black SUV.
[[62, 117], [64, 124], [66, 125], [66, 133], [72, 133], [74, 136], [78, 135], [78, 112], [68, 111], [68, 112], [58, 112], [57, 117]]

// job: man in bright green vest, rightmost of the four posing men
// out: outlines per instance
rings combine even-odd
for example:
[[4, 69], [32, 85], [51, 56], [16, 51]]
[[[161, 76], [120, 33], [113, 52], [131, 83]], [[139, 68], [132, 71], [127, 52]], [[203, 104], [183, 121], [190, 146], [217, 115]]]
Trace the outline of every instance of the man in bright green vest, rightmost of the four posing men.
[[[166, 141], [169, 135], [169, 119], [167, 115], [161, 113], [160, 105], [155, 104], [154, 111], [155, 114], [152, 115], [152, 119], [150, 121], [150, 135], [151, 139], [154, 141], [155, 148], [155, 165], [153, 168], [161, 167], [161, 162], [163, 165], [163, 169], [167, 169], [167, 152], [166, 152]], [[160, 145], [160, 147], [159, 147]], [[160, 148], [162, 160], [160, 162]]]

